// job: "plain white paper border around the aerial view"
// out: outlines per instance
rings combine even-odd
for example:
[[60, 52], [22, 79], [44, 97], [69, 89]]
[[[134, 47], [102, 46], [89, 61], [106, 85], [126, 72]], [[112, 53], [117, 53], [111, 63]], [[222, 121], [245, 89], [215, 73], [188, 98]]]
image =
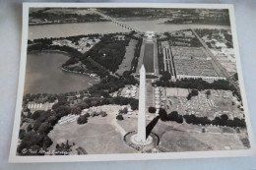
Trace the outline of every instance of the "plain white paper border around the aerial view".
[[[30, 8], [205, 8], [228, 9], [230, 28], [233, 38], [233, 47], [236, 59], [239, 87], [244, 106], [245, 121], [251, 147], [240, 150], [215, 150], [215, 151], [185, 151], [164, 153], [122, 153], [122, 154], [87, 154], [87, 155], [45, 155], [45, 156], [19, 156], [17, 155], [18, 137], [21, 122], [21, 110], [26, 76], [27, 47], [29, 32]], [[78, 162], [78, 161], [111, 161], [111, 160], [150, 160], [150, 159], [180, 159], [180, 158], [210, 158], [210, 157], [237, 157], [256, 155], [255, 142], [251, 127], [245, 87], [239, 55], [237, 33], [235, 27], [234, 9], [232, 4], [194, 4], [194, 3], [24, 3], [23, 4], [23, 31], [20, 59], [19, 85], [16, 101], [16, 111], [13, 126], [13, 135], [9, 153], [9, 162]]]

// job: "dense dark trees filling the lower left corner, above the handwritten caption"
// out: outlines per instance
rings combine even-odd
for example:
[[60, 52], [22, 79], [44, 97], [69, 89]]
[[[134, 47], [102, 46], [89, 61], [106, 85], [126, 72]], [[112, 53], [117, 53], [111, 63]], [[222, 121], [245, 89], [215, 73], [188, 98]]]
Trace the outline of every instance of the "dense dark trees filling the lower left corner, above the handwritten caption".
[[17, 148], [19, 154], [43, 154], [39, 152], [23, 153], [22, 150], [31, 147], [39, 147], [46, 150], [46, 148], [52, 144], [47, 136], [48, 133], [53, 129], [53, 126], [61, 117], [66, 116], [71, 112], [71, 108], [65, 99], [59, 99], [59, 102], [52, 106], [52, 110], [53, 111], [36, 110], [30, 118], [27, 117], [27, 119], [34, 120], [34, 123], [31, 128], [27, 128], [27, 133], [25, 130], [20, 131], [19, 138], [22, 142]]

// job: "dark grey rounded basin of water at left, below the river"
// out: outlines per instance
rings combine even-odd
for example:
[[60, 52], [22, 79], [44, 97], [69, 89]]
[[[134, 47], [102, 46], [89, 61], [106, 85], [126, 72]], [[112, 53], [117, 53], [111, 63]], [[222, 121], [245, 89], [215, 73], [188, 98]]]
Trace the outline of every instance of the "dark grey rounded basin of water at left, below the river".
[[68, 73], [60, 66], [69, 59], [60, 53], [32, 53], [27, 56], [24, 93], [65, 93], [86, 89], [96, 84], [87, 75]]

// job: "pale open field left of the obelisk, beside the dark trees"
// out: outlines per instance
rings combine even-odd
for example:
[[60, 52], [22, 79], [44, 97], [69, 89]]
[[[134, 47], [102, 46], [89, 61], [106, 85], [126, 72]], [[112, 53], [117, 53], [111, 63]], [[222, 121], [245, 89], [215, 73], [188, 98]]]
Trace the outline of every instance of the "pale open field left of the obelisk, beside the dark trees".
[[88, 154], [106, 153], [133, 153], [135, 149], [127, 146], [121, 134], [111, 125], [114, 116], [89, 118], [87, 124], [78, 125], [77, 122], [56, 125], [49, 133], [53, 144], [50, 149], [55, 149], [56, 143], [75, 142], [70, 154], [77, 154], [76, 148], [85, 148]]

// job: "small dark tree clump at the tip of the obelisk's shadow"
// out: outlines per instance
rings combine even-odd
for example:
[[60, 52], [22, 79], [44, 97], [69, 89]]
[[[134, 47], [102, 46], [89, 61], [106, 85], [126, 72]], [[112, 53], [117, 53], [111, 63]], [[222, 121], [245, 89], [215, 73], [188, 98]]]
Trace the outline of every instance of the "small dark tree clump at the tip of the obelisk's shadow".
[[179, 115], [177, 111], [172, 111], [167, 114], [166, 110], [160, 108], [159, 115], [161, 121], [174, 121], [179, 124], [183, 123], [183, 117], [182, 115]]

